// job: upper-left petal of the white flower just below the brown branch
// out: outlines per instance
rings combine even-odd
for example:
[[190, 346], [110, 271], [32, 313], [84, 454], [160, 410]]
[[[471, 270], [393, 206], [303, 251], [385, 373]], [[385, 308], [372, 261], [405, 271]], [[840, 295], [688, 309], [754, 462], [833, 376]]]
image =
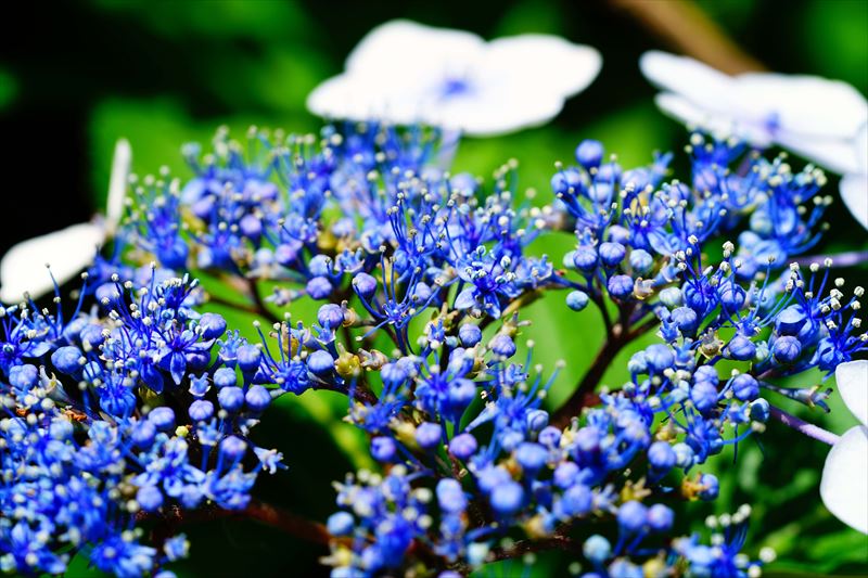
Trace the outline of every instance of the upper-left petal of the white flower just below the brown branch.
[[732, 77], [697, 60], [652, 50], [641, 55], [639, 68], [651, 82], [694, 106], [720, 112], [730, 107]]

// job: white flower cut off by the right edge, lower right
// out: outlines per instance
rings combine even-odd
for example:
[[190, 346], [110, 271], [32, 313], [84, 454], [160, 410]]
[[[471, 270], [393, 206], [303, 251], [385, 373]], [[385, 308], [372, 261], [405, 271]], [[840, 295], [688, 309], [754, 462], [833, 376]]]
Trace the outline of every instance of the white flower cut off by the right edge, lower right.
[[822, 467], [820, 497], [847, 526], [868, 534], [868, 361], [850, 361], [834, 372], [838, 390], [860, 425], [832, 446]]

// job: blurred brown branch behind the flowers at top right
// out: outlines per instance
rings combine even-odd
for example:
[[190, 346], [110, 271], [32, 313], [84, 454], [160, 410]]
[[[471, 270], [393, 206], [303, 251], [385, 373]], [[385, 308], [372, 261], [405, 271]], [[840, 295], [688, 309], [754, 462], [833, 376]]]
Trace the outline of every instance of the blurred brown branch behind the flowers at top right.
[[618, 11], [637, 20], [674, 50], [693, 56], [727, 74], [763, 70], [705, 14], [688, 0], [609, 0]]

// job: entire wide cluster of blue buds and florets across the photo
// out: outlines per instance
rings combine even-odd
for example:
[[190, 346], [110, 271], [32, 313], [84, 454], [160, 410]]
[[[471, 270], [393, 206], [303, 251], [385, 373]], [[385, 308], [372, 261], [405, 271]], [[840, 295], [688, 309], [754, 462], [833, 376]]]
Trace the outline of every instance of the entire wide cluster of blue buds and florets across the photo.
[[[585, 141], [536, 206], [514, 163], [489, 185], [450, 174], [454, 145], [376, 125], [252, 129], [243, 144], [221, 130], [213, 153], [186, 149], [188, 182], [132, 179], [74, 314], [2, 311], [0, 565], [58, 574], [80, 552], [169, 576], [183, 535], [154, 543], [139, 523], [244, 511], [257, 475], [282, 467], [253, 426], [285, 393], [329, 389], [382, 466], [336, 484], [335, 578], [449, 578], [552, 548], [589, 578], [757, 575], [740, 552], [749, 509], [706, 543], [675, 536], [674, 504], [717, 498], [703, 464], [764, 431], [765, 393], [826, 408], [828, 390], [779, 378], [866, 349], [863, 290], [845, 298], [828, 267], [787, 266], [819, 240], [822, 174], [694, 134], [688, 183], [666, 180], [672, 155], [627, 170]], [[574, 235], [562, 269], [529, 248], [540, 234]], [[270, 331], [257, 322], [248, 343], [207, 312], [197, 270]], [[595, 304], [608, 332], [559, 408], [559, 368], [535, 367], [533, 343], [519, 352], [521, 309], [544, 292]], [[316, 320], [275, 313], [299, 299], [321, 301]], [[629, 382], [598, 391], [614, 355], [654, 331]]]

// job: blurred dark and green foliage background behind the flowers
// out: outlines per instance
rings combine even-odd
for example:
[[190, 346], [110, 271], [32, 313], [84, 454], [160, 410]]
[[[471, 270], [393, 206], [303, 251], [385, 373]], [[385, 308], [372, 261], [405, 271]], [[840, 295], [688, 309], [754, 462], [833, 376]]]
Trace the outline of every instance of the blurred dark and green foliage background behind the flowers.
[[[166, 165], [189, 176], [180, 145], [207, 143], [219, 125], [237, 134], [250, 125], [317, 131], [320, 120], [304, 106], [308, 92], [342, 69], [346, 54], [370, 28], [394, 17], [464, 28], [486, 38], [557, 34], [602, 53], [599, 78], [550, 125], [496, 139], [468, 139], [460, 146], [456, 168], [482, 176], [518, 158], [523, 185], [539, 191], [544, 201], [553, 162], [571, 159], [580, 139], [603, 141], [625, 165], [648, 162], [654, 150], [682, 149], [685, 129], [658, 112], [654, 90], [639, 74], [637, 61], [644, 50], [688, 51], [731, 69], [749, 63], [817, 74], [868, 93], [868, 0], [34, 3], [4, 9], [0, 25], [0, 134], [5, 142], [0, 155], [5, 216], [0, 253], [98, 211], [118, 137], [132, 144], [136, 172], [155, 172]], [[684, 159], [675, 165], [676, 170], [685, 167]], [[837, 179], [829, 191], [837, 195]], [[841, 204], [832, 207], [829, 219], [834, 226], [821, 251], [868, 248], [865, 231]], [[569, 246], [564, 237], [537, 249], [557, 261]], [[864, 268], [847, 275], [863, 284], [868, 279]], [[558, 359], [567, 362], [552, 390], [556, 404], [569, 395], [602, 338], [595, 311], [564, 314], [561, 298], [544, 299], [525, 314], [534, 319], [525, 335], [538, 344], [535, 361], [549, 368]], [[304, 303], [293, 307], [302, 319], [315, 310]], [[248, 325], [250, 320], [235, 321]], [[604, 383], [623, 382], [626, 357], [613, 362]], [[815, 381], [801, 385], [818, 384], [821, 375], [810, 378]], [[829, 415], [781, 404], [837, 433], [855, 423], [837, 395]], [[331, 513], [330, 481], [370, 465], [363, 440], [340, 421], [344, 411], [345, 401], [320, 393], [269, 410], [257, 435], [283, 451], [290, 470], [260, 478], [265, 498], [318, 519]], [[835, 521], [819, 500], [828, 448], [795, 439], [797, 435], [771, 424], [760, 442], [742, 444], [737, 457], [719, 457], [705, 471], [720, 476], [720, 499], [680, 505], [687, 511], [680, 519], [701, 521], [750, 503], [746, 552], [755, 556], [764, 545], [778, 552], [767, 575], [868, 575], [868, 538]], [[190, 560], [176, 568], [181, 576], [324, 571], [317, 565], [324, 549], [255, 523], [200, 522], [184, 530], [193, 548]], [[531, 570], [563, 575], [564, 560], [541, 555]], [[522, 564], [513, 563], [478, 574], [522, 571]], [[92, 574], [84, 563], [69, 573]]]

